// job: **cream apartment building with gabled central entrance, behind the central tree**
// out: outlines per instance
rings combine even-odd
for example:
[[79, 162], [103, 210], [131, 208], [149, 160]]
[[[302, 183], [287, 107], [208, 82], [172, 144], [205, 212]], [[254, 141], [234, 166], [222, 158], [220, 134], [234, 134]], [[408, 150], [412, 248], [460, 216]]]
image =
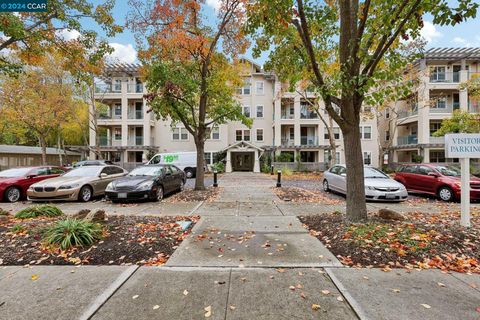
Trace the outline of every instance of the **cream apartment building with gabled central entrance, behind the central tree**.
[[[305, 169], [323, 170], [330, 152], [324, 122], [310, 108], [313, 93], [286, 92], [273, 73], [245, 60], [245, 81], [237, 89], [243, 113], [252, 118], [249, 128], [240, 122], [212, 127], [205, 144], [207, 164], [215, 155], [225, 154], [226, 171], [260, 171], [266, 153], [291, 154]], [[153, 152], [195, 151], [193, 137], [182, 124], [157, 120], [143, 99], [146, 92], [139, 66], [107, 66], [95, 98], [107, 106], [97, 119], [98, 130], [90, 130], [90, 145], [100, 148], [106, 159], [131, 168], [148, 160]], [[328, 119], [325, 111], [322, 116]], [[366, 114], [369, 114], [367, 111]], [[362, 122], [362, 147], [365, 164], [378, 166], [378, 129], [373, 113]], [[328, 122], [327, 122], [328, 123]], [[337, 161], [344, 162], [343, 140], [334, 127]], [[92, 157], [94, 154], [91, 155]]]

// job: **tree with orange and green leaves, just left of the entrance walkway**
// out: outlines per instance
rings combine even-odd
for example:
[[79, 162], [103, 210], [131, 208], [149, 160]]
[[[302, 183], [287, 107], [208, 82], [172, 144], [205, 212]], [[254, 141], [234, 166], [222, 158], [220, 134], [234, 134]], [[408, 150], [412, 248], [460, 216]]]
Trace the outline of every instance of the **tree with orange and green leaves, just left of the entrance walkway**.
[[[129, 26], [137, 35], [150, 92], [146, 98], [157, 117], [181, 122], [197, 150], [195, 189], [204, 186], [204, 146], [209, 128], [226, 121], [250, 125], [235, 98], [243, 65], [237, 56], [247, 47], [241, 31], [244, 0], [224, 0], [215, 21], [203, 15], [203, 1], [130, 0]], [[223, 53], [220, 53], [220, 46]]]

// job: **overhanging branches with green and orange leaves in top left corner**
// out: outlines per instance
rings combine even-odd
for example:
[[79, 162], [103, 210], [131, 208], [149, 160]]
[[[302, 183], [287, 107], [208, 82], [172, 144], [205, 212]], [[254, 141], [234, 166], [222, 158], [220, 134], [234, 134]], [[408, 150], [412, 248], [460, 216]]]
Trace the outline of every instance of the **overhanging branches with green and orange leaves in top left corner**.
[[[49, 0], [47, 12], [0, 13], [0, 72], [18, 73], [23, 63], [41, 62], [41, 57], [52, 50], [68, 57], [66, 65], [71, 72], [86, 62], [78, 57], [88, 56], [89, 64], [95, 66], [112, 48], [105, 40], [98, 40], [93, 28], [83, 26], [91, 26], [93, 21], [107, 37], [122, 31], [111, 15], [115, 1], [101, 2], [93, 5], [88, 0]], [[66, 37], [65, 32], [78, 37]], [[9, 55], [11, 51], [16, 55]]]

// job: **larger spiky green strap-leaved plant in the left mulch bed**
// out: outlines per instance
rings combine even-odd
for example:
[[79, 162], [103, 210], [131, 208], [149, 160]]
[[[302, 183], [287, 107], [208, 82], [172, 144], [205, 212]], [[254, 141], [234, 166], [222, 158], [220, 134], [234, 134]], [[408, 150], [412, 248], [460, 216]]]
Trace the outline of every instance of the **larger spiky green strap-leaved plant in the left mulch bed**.
[[62, 250], [75, 246], [90, 246], [102, 238], [98, 223], [66, 218], [53, 223], [43, 232], [43, 242], [58, 245]]

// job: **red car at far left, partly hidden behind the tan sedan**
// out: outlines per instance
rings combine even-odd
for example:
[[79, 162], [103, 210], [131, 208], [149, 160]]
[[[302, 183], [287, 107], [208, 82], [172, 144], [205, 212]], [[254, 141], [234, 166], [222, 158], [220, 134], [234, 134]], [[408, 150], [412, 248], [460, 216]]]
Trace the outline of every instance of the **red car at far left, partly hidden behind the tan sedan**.
[[58, 177], [67, 170], [61, 167], [25, 167], [0, 171], [0, 201], [25, 199], [27, 189], [35, 182]]

